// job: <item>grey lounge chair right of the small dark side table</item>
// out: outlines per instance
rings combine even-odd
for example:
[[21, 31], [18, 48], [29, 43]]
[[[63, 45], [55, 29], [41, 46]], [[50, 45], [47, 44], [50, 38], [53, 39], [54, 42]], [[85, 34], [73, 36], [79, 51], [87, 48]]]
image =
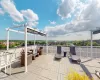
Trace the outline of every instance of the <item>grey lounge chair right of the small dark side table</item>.
[[73, 62], [81, 62], [80, 58], [76, 55], [75, 46], [70, 47], [70, 58]]

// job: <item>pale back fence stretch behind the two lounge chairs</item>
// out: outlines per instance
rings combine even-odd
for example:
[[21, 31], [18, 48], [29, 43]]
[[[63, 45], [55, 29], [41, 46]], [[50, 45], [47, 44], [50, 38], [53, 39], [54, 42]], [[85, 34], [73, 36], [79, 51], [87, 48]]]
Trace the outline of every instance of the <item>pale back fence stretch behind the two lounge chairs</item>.
[[[46, 51], [46, 47], [44, 47], [44, 52]], [[48, 54], [54, 55], [57, 53], [57, 46], [48, 46]], [[100, 46], [93, 46], [92, 48], [92, 54], [91, 54], [91, 47], [90, 46], [76, 46], [76, 55], [80, 57], [92, 57], [92, 58], [100, 58]], [[70, 52], [69, 47], [63, 47], [62, 46], [62, 53], [66, 51], [67, 53]]]

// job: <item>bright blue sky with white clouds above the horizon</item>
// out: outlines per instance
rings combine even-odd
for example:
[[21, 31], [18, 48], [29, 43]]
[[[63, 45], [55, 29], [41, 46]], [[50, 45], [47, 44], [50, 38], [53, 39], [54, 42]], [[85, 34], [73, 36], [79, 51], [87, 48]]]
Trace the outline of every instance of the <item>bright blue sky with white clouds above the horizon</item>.
[[[6, 39], [6, 28], [25, 23], [46, 32], [50, 40], [88, 40], [90, 30], [100, 28], [100, 0], [0, 0], [0, 40]], [[24, 35], [10, 32], [10, 39]]]

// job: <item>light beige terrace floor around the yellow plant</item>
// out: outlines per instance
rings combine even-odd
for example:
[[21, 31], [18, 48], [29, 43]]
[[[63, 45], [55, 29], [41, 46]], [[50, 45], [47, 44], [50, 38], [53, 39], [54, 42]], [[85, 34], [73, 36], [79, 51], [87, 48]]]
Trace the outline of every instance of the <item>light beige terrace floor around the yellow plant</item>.
[[[83, 59], [87, 69], [92, 73], [95, 80], [99, 80], [95, 75], [94, 71], [100, 71], [100, 60], [99, 59]], [[11, 76], [0, 73], [0, 80], [64, 80], [64, 77], [70, 71], [74, 69], [79, 73], [83, 73], [84, 70], [78, 64], [73, 64], [67, 57], [62, 58], [59, 61], [54, 60], [54, 55], [41, 55], [33, 60], [32, 64], [28, 66], [28, 72], [24, 73], [24, 67], [12, 68], [12, 73], [18, 72]]]

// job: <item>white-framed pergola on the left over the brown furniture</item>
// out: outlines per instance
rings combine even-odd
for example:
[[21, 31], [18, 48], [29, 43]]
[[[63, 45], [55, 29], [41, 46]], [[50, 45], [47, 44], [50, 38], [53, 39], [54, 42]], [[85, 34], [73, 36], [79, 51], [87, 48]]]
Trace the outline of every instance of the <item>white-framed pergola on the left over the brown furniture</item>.
[[[17, 30], [16, 30], [17, 28]], [[18, 30], [18, 28], [23, 28], [23, 30]], [[26, 24], [20, 25], [20, 26], [13, 26], [6, 29], [7, 30], [7, 50], [9, 50], [9, 32], [17, 32], [17, 33], [23, 33], [24, 34], [24, 40], [25, 40], [25, 72], [28, 71], [27, 69], [27, 34], [33, 35], [34, 34], [34, 45], [35, 45], [35, 35], [45, 36], [46, 37], [46, 53], [48, 53], [48, 36], [46, 33], [39, 31], [37, 29], [34, 29], [32, 27], [29, 27]]]

